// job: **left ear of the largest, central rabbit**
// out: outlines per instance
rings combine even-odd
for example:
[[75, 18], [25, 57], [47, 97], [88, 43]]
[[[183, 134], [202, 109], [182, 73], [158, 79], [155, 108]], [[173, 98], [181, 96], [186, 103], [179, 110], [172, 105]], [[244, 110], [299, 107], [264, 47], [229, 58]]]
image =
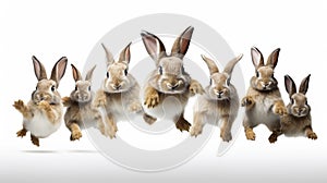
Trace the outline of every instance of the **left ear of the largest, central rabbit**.
[[165, 45], [154, 34], [143, 30], [141, 33], [143, 44], [146, 48], [147, 53], [156, 61], [156, 65], [159, 64], [159, 60], [167, 56]]

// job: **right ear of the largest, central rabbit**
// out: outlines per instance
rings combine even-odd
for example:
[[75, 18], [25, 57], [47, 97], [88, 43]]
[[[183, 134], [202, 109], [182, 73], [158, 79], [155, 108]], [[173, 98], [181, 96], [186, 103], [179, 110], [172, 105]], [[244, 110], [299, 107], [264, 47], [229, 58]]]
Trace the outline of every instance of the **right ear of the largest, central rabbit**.
[[173, 42], [173, 46], [171, 48], [171, 56], [179, 57], [183, 59], [183, 57], [186, 54], [190, 41], [192, 38], [194, 27], [189, 26]]

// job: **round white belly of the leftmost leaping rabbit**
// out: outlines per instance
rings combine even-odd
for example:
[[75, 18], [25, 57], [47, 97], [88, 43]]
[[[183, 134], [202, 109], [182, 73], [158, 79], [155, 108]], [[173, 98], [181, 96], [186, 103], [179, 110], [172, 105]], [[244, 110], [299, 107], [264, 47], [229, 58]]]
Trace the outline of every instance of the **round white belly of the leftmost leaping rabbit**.
[[55, 133], [61, 125], [61, 113], [53, 112], [56, 115], [55, 122], [50, 121], [47, 114], [38, 109], [33, 112], [31, 120], [24, 119], [24, 127], [38, 138], [45, 138]]

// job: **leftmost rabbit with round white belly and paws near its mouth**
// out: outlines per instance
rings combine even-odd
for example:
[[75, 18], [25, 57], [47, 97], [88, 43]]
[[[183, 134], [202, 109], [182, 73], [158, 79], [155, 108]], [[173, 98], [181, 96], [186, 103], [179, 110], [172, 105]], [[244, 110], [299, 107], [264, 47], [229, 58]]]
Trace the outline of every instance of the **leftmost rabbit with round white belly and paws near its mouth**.
[[14, 102], [13, 107], [23, 114], [23, 129], [16, 133], [24, 137], [31, 132], [31, 141], [39, 146], [39, 138], [46, 138], [61, 125], [63, 106], [58, 89], [63, 77], [68, 59], [62, 57], [53, 66], [50, 78], [47, 78], [45, 66], [32, 57], [34, 72], [38, 80], [36, 89], [27, 105], [23, 100]]

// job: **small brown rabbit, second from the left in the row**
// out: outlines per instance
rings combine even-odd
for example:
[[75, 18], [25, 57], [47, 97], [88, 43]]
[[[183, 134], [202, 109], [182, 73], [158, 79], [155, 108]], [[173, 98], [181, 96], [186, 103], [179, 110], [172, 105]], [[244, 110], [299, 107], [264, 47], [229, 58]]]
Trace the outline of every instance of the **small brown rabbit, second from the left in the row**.
[[[81, 72], [73, 64], [71, 66], [75, 89], [70, 97], [62, 98], [62, 102], [64, 107], [68, 107], [64, 122], [71, 131], [70, 139], [75, 141], [82, 137], [81, 129], [98, 127], [104, 130], [104, 123], [100, 111], [93, 106], [92, 75], [96, 65], [87, 72], [85, 80], [82, 78]], [[101, 133], [105, 134], [104, 131]]]

